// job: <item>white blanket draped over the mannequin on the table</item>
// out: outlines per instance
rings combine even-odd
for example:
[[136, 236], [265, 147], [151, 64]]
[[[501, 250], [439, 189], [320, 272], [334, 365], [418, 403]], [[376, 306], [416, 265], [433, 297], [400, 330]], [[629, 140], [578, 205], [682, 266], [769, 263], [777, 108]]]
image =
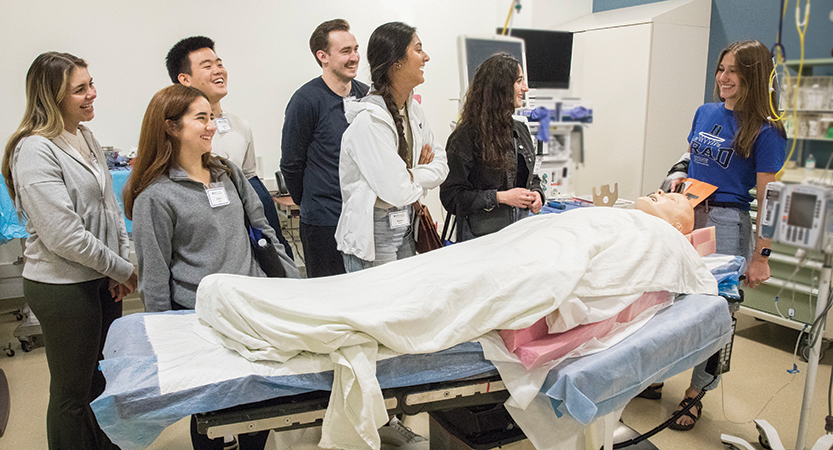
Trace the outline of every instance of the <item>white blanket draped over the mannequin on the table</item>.
[[717, 294], [717, 283], [661, 219], [587, 208], [336, 277], [212, 275], [197, 291], [197, 314], [250, 360], [330, 354], [335, 380], [320, 445], [378, 449], [377, 429], [387, 421], [375, 378], [378, 343], [434, 352], [494, 329], [528, 327], [562, 304], [579, 316], [561, 314], [562, 324], [602, 320], [593, 301], [575, 305], [660, 290]]

